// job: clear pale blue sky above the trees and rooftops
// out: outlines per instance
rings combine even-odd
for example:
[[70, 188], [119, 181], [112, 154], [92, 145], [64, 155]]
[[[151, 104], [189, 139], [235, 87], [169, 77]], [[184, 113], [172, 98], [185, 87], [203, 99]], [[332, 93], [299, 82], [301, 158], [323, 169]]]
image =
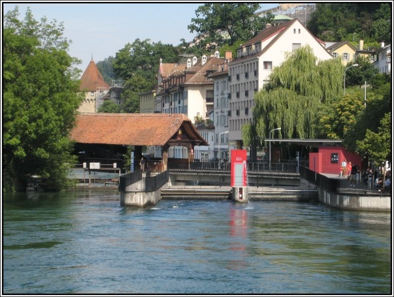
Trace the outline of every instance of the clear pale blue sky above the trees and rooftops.
[[[2, 1], [3, 13], [18, 6], [20, 18], [30, 7], [33, 17], [46, 17], [48, 22], [55, 19], [63, 22], [64, 36], [71, 39], [69, 54], [82, 60], [78, 66], [85, 70], [92, 54], [97, 63], [115, 57], [116, 52], [136, 38], [150, 39], [152, 42], [178, 45], [180, 39], [192, 41], [195, 33], [187, 26], [196, 17], [196, 9], [203, 2], [169, 3], [7, 3]], [[262, 9], [277, 6], [278, 3], [261, 3]]]

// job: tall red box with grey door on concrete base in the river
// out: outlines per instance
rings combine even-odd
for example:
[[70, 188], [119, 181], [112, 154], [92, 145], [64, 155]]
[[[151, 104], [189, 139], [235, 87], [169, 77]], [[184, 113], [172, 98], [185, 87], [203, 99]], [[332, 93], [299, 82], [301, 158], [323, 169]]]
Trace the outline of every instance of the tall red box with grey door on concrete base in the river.
[[246, 150], [231, 150], [231, 189], [232, 200], [248, 201]]

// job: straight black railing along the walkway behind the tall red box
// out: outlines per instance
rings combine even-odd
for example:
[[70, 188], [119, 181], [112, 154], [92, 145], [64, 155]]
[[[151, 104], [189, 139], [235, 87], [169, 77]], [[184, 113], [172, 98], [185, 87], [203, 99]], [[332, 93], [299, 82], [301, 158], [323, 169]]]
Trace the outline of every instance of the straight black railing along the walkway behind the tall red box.
[[[298, 164], [295, 162], [247, 162], [248, 174], [272, 174], [272, 175], [298, 175]], [[171, 159], [167, 169], [170, 171], [194, 171], [194, 172], [223, 172], [230, 174], [231, 165], [227, 160], [198, 160], [190, 162], [187, 159]]]

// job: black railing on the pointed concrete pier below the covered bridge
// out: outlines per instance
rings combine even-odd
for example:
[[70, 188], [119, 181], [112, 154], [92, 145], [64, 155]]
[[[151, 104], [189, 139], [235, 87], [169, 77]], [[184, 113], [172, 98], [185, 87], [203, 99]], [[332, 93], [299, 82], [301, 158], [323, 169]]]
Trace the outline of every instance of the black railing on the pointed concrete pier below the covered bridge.
[[162, 187], [169, 178], [168, 170], [157, 175], [150, 176], [150, 171], [142, 176], [141, 170], [122, 175], [119, 180], [119, 191], [121, 192], [151, 192]]

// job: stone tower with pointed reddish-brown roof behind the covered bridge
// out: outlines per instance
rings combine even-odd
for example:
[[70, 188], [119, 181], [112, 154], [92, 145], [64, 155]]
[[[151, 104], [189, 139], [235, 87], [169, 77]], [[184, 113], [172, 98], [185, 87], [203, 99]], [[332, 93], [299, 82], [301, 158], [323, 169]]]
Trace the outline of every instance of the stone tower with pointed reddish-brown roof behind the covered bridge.
[[93, 59], [89, 62], [89, 65], [81, 76], [79, 90], [84, 92], [85, 96], [78, 111], [97, 112], [97, 109], [102, 103], [102, 97], [109, 90], [109, 84], [102, 78], [99, 68]]

